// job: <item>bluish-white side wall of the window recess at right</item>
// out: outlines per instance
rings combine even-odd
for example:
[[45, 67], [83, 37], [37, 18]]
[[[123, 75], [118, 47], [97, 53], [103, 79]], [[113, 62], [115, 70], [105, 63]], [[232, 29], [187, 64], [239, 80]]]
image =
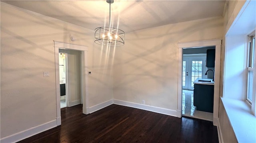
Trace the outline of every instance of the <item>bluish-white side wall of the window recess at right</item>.
[[244, 100], [246, 94], [246, 35], [226, 38], [224, 97]]

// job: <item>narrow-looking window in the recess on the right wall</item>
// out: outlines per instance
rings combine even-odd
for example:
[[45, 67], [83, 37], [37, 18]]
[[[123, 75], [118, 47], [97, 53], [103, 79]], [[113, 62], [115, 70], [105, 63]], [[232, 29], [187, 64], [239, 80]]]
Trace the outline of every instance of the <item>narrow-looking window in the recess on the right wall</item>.
[[252, 91], [253, 91], [253, 65], [254, 65], [254, 50], [255, 50], [255, 35], [250, 35], [248, 37], [248, 59], [247, 59], [247, 97], [248, 100], [252, 104]]

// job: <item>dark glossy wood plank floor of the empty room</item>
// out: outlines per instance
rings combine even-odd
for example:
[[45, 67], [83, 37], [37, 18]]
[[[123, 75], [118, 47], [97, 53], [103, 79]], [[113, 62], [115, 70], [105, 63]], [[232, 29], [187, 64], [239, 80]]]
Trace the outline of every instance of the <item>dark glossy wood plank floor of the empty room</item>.
[[19, 143], [218, 143], [210, 121], [110, 105], [89, 115], [62, 108], [62, 125]]

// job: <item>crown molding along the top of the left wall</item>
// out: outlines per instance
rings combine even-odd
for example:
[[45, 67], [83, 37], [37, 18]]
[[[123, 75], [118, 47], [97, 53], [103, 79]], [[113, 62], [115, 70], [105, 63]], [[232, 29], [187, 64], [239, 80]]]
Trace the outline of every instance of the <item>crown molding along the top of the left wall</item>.
[[56, 18], [52, 18], [52, 17], [49, 17], [49, 16], [45, 16], [45, 15], [43, 15], [43, 14], [39, 14], [39, 13], [30, 11], [30, 10], [26, 10], [26, 9], [20, 8], [20, 7], [18, 7], [18, 6], [13, 6], [13, 5], [11, 5], [11, 4], [6, 4], [5, 2], [0, 2], [0, 5], [2, 5], [2, 6], [7, 6], [7, 7], [9, 7], [9, 8], [13, 8], [13, 9], [15, 9], [15, 10], [19, 10], [19, 11], [22, 11], [22, 12], [26, 12], [26, 13], [32, 14], [32, 15], [34, 15], [34, 16], [39, 16], [39, 17], [42, 17], [42, 18], [47, 19], [47, 20], [53, 20], [53, 21], [55, 21], [55, 22], [59, 22], [59, 23], [62, 23], [62, 24], [66, 24], [66, 25], [70, 25], [70, 26], [74, 26], [74, 27], [78, 27], [78, 28], [81, 28], [81, 29], [84, 29], [84, 30], [88, 30], [88, 31], [94, 32], [94, 30], [92, 30], [92, 29], [88, 29], [88, 28], [85, 28], [85, 27], [82, 27], [82, 26], [78, 26], [78, 25], [75, 25], [75, 24], [71, 24], [71, 23], [69, 23], [69, 22], [64, 22], [64, 21], [62, 21], [62, 20], [59, 20], [59, 19], [56, 19]]

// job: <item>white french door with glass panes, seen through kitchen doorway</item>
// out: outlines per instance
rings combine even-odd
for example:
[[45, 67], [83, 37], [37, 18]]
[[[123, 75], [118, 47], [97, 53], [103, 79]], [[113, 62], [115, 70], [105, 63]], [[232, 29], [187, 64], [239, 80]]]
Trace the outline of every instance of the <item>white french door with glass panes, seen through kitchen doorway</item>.
[[196, 78], [205, 78], [205, 57], [184, 57], [182, 65], [182, 88], [194, 90]]

